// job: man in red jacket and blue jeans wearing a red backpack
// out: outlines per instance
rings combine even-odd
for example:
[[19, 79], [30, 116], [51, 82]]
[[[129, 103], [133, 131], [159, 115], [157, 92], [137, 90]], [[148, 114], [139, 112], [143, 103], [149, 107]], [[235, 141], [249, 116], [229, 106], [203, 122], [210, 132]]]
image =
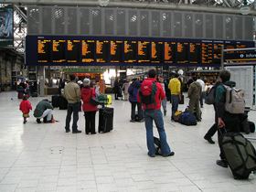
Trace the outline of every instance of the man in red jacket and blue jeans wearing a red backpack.
[[[165, 92], [155, 77], [155, 69], [150, 69], [148, 71], [148, 78], [143, 81], [138, 92], [138, 102], [142, 103], [144, 110], [147, 155], [150, 157], [155, 157], [155, 155], [172, 156], [175, 153], [171, 151], [169, 144], [167, 144], [163, 113], [161, 112], [161, 101], [165, 99]], [[153, 121], [160, 137], [161, 154], [158, 154], [155, 149]]]

